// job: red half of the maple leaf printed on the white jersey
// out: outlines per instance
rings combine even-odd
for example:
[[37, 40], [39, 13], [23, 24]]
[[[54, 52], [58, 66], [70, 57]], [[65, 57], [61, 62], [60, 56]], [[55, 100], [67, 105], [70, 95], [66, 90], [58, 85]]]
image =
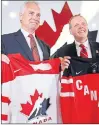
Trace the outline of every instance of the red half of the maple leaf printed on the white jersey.
[[34, 107], [34, 105], [35, 105], [35, 102], [38, 100], [39, 97], [42, 97], [42, 93], [39, 95], [38, 91], [35, 90], [34, 95], [33, 96], [30, 95], [32, 105], [29, 102], [27, 102], [26, 104], [21, 104], [22, 110], [20, 112], [29, 116], [33, 107]]

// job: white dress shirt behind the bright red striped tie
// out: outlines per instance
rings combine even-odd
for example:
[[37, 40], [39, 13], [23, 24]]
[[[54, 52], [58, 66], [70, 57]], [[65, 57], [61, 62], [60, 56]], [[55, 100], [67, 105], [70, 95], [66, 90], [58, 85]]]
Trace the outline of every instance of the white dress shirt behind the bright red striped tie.
[[[77, 42], [77, 41], [75, 40], [75, 44], [76, 44], [77, 55], [80, 56], [80, 51], [81, 51], [80, 44], [81, 44], [81, 43], [79, 43], [79, 42]], [[87, 50], [88, 58], [92, 58], [91, 48], [90, 48], [90, 45], [89, 45], [88, 40], [87, 40], [86, 42], [82, 43], [82, 44], [85, 46], [85, 48], [86, 48], [86, 50]]]

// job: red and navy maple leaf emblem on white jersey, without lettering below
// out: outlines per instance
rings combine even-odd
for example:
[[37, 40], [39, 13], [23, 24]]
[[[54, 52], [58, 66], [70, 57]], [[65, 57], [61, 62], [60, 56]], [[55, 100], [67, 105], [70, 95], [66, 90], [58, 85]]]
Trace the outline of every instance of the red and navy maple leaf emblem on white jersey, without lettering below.
[[[45, 116], [47, 109], [50, 106], [50, 98], [42, 99], [42, 93], [39, 95], [38, 91], [35, 90], [34, 95], [30, 95], [32, 104], [27, 102], [26, 104], [21, 104], [22, 110], [21, 113], [29, 116], [28, 120], [36, 118], [37, 116]], [[41, 100], [40, 100], [41, 98]], [[38, 102], [38, 104], [36, 103]]]

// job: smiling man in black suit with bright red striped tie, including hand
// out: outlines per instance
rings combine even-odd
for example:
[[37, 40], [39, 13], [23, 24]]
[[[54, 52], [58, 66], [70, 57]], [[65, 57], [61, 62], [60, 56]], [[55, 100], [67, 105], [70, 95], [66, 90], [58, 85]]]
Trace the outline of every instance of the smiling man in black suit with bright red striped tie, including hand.
[[61, 68], [64, 71], [68, 69], [71, 57], [99, 58], [99, 43], [88, 39], [88, 24], [81, 15], [73, 16], [69, 21], [70, 33], [75, 41], [72, 44], [66, 44], [57, 50], [54, 57], [60, 57]]

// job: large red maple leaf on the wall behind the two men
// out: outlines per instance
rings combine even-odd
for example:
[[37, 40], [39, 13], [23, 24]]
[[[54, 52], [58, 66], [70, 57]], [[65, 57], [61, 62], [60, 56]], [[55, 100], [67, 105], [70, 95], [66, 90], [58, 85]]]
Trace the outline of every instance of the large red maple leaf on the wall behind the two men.
[[52, 14], [56, 26], [56, 32], [53, 31], [46, 21], [44, 21], [43, 25], [40, 26], [36, 31], [36, 35], [41, 40], [45, 41], [50, 47], [55, 44], [60, 36], [63, 26], [67, 24], [69, 19], [72, 17], [72, 12], [67, 2], [65, 2], [61, 13], [57, 13], [52, 9]]

